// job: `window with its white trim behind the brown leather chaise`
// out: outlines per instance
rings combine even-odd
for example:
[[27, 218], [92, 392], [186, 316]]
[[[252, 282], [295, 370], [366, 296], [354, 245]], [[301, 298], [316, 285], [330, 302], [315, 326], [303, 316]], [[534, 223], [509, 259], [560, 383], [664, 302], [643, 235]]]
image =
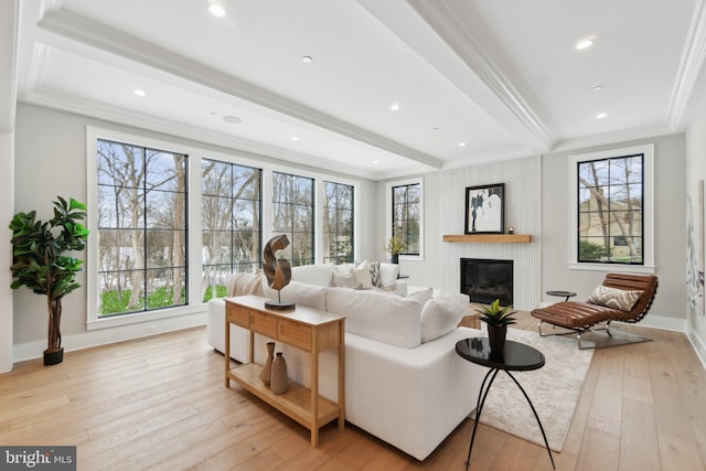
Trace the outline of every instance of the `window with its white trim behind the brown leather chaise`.
[[653, 265], [652, 146], [574, 156], [577, 265]]

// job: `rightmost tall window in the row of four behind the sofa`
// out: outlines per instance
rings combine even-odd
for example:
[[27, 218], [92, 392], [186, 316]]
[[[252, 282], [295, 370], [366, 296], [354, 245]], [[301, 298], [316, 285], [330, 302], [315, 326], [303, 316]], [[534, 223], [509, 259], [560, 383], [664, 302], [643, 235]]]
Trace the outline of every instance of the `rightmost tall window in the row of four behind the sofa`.
[[353, 186], [323, 182], [323, 261], [353, 263]]

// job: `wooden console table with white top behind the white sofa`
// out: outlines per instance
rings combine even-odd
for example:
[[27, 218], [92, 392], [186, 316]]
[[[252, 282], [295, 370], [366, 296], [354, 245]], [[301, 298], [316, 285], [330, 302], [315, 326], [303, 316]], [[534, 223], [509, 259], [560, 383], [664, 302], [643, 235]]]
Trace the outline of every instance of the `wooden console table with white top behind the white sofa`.
[[[345, 317], [297, 307], [292, 311], [265, 308], [259, 296], [225, 300], [225, 386], [231, 379], [270, 406], [311, 430], [311, 446], [319, 445], [319, 428], [333, 419], [345, 424]], [[231, 367], [231, 323], [250, 331], [250, 363]], [[311, 388], [289, 379], [285, 394], [274, 394], [260, 379], [261, 365], [254, 363], [255, 333], [311, 353]], [[319, 353], [339, 349], [338, 404], [319, 395]]]

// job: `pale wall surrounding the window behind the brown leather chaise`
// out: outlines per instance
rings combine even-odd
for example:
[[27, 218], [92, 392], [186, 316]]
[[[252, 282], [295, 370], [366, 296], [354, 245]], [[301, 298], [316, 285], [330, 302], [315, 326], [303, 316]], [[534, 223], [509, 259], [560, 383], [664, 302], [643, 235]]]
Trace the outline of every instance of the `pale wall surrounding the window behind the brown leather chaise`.
[[555, 302], [544, 295], [547, 290], [576, 291], [575, 299], [586, 299], [601, 282], [606, 271], [571, 270], [569, 259], [569, 182], [568, 157], [640, 143], [654, 142], [654, 257], [660, 286], [654, 304], [643, 325], [684, 330], [686, 210], [684, 135], [660, 137], [633, 142], [620, 142], [542, 158], [542, 293], [543, 300]]

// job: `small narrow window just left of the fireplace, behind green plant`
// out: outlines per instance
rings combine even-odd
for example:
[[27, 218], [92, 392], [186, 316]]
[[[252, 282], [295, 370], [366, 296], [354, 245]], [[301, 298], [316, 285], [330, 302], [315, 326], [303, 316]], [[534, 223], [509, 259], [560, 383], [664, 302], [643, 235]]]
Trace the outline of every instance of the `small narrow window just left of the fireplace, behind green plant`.
[[391, 185], [392, 221], [388, 237], [397, 235], [405, 244], [400, 255], [421, 255], [421, 182]]

